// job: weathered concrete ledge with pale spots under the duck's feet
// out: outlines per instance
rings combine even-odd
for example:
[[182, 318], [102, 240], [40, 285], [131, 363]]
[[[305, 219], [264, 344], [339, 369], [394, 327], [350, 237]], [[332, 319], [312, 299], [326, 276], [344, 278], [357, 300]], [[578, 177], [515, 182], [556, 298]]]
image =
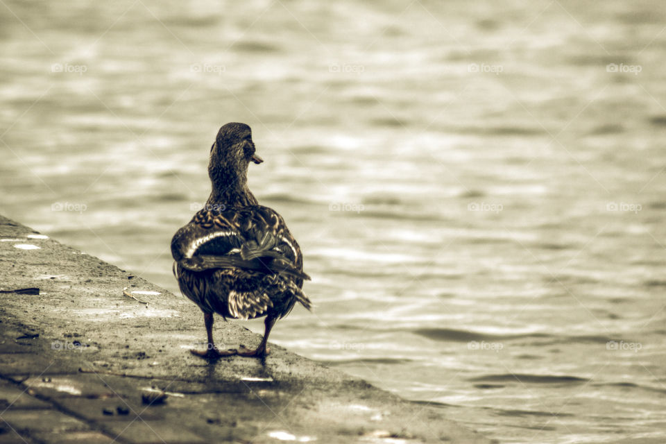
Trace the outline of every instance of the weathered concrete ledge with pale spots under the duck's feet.
[[3, 216], [0, 278], [1, 443], [489, 442], [278, 345], [207, 364], [187, 352], [205, 339], [189, 300]]

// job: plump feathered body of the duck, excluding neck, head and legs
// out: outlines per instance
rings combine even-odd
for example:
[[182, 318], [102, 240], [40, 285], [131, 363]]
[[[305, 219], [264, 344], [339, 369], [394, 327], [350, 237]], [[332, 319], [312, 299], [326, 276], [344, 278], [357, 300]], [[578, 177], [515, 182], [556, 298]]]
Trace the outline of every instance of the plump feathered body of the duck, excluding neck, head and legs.
[[282, 317], [302, 293], [302, 255], [287, 224], [262, 205], [201, 210], [171, 240], [182, 292], [203, 311], [225, 317]]

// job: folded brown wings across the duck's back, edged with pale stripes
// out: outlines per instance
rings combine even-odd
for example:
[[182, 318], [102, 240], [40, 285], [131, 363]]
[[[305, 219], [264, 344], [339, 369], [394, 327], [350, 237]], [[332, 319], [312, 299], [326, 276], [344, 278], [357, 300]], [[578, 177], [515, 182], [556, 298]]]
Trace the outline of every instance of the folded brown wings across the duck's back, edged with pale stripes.
[[200, 210], [173, 236], [171, 254], [191, 271], [241, 268], [309, 280], [282, 217], [260, 205], [225, 212]]

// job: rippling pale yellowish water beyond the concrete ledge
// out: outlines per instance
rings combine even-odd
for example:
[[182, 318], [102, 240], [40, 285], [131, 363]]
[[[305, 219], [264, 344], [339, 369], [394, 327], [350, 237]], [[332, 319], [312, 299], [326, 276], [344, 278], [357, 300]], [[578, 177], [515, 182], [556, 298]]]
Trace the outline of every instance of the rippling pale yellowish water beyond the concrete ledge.
[[660, 443], [661, 6], [8, 1], [0, 211], [177, 292], [246, 122], [317, 305], [273, 341], [502, 443]]

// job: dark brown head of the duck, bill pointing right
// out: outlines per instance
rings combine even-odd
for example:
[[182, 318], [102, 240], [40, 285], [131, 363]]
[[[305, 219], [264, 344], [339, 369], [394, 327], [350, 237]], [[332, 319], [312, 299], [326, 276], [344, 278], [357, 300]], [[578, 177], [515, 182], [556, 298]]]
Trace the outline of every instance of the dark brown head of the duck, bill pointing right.
[[246, 178], [250, 162], [264, 162], [255, 153], [252, 130], [245, 123], [227, 123], [210, 147], [208, 175], [216, 185]]

